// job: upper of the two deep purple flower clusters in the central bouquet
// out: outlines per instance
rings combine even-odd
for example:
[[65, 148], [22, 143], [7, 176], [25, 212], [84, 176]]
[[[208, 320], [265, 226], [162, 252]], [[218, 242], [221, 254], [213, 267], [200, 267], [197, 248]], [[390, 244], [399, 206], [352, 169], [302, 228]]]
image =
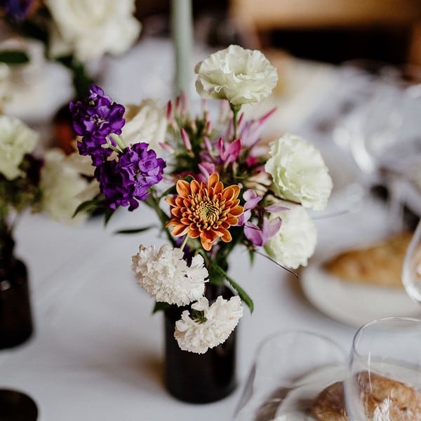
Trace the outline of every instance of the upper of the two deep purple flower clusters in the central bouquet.
[[[93, 85], [86, 100], [70, 102], [69, 108], [74, 131], [82, 136], [77, 143], [79, 153], [91, 156], [93, 165], [99, 166], [112, 154], [112, 149], [102, 147], [107, 137], [121, 134], [125, 123], [123, 105], [113, 102], [99, 86]], [[109, 141], [116, 146], [112, 138]]]

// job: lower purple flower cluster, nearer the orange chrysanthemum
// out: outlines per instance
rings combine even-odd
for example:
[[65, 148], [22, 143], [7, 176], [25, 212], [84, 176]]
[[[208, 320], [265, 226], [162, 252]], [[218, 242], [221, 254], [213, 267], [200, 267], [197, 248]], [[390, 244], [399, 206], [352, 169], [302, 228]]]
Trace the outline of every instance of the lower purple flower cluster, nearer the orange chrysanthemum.
[[118, 161], [105, 161], [95, 168], [95, 177], [109, 208], [138, 208], [138, 201], [147, 199], [149, 187], [162, 180], [166, 163], [156, 158], [152, 149], [148, 151], [148, 146], [144, 142], [135, 143], [123, 150]]

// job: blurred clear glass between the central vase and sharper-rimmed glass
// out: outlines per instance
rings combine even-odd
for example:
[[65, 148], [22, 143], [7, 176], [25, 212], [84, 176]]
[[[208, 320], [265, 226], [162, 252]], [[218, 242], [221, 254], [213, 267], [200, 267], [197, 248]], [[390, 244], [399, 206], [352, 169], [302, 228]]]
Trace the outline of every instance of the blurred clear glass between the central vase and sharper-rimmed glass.
[[234, 420], [308, 420], [312, 398], [342, 380], [346, 368], [345, 352], [327, 338], [276, 333], [258, 348]]

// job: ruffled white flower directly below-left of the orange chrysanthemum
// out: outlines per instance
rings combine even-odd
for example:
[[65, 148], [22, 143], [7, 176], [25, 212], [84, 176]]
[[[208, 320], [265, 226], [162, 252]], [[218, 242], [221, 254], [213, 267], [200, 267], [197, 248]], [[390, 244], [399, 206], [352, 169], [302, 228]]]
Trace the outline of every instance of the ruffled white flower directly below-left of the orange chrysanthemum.
[[158, 251], [154, 246], [139, 246], [132, 256], [132, 270], [138, 284], [157, 302], [178, 306], [199, 300], [205, 290], [208, 270], [201, 255], [195, 255], [187, 266], [180, 248], [163, 244]]

